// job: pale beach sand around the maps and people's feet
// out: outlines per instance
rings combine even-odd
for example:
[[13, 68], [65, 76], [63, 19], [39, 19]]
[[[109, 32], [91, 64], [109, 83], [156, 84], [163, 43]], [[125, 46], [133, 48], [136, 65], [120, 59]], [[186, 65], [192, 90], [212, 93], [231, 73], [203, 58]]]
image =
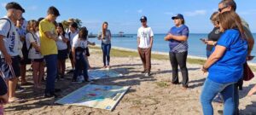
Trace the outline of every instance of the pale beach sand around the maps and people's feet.
[[[96, 51], [95, 49], [90, 52]], [[96, 51], [98, 52], [98, 51]], [[90, 65], [102, 67], [102, 54], [90, 55]], [[96, 84], [131, 86], [119, 101], [113, 112], [90, 108], [86, 106], [62, 106], [54, 104], [57, 99], [44, 99], [44, 89], [33, 89], [26, 86], [26, 91], [17, 96], [26, 99], [25, 103], [5, 105], [7, 115], [200, 115], [202, 114], [200, 95], [201, 86], [207, 74], [201, 72], [201, 65], [188, 64], [189, 89], [181, 85], [172, 85], [172, 67], [169, 60], [152, 60], [152, 75], [144, 77], [141, 60], [137, 57], [111, 57], [113, 70], [124, 74], [120, 78], [96, 80]], [[70, 64], [67, 61], [67, 69]], [[67, 74], [64, 81], [55, 83], [56, 88], [62, 89], [61, 97], [68, 95], [86, 83], [71, 83], [72, 74]], [[32, 72], [27, 73], [32, 82]], [[179, 78], [182, 76], [179, 73]], [[247, 91], [256, 83], [256, 78], [245, 82], [240, 92], [241, 114], [256, 114], [256, 95], [247, 97]], [[223, 109], [222, 104], [213, 103], [214, 114]]]

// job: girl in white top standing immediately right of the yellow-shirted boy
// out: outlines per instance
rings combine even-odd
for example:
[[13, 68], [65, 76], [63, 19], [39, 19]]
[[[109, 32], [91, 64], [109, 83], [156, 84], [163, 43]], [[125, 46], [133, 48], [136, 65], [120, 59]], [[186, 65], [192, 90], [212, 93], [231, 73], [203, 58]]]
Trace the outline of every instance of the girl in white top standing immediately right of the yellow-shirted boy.
[[68, 36], [67, 33], [64, 31], [64, 27], [61, 23], [57, 24], [57, 33], [58, 33], [58, 41], [57, 48], [58, 48], [58, 74], [61, 78], [64, 78], [64, 73], [66, 70], [65, 61], [67, 59], [67, 41]]

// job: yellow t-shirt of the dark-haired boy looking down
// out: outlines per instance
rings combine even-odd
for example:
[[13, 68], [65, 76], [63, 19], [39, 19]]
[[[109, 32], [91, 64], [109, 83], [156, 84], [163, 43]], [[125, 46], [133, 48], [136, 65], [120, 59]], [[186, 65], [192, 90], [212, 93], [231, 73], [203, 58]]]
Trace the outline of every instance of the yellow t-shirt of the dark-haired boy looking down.
[[55, 40], [46, 37], [44, 32], [56, 33], [55, 25], [49, 20], [41, 20], [39, 23], [39, 36], [41, 43], [41, 53], [42, 55], [56, 55], [58, 54], [57, 45]]

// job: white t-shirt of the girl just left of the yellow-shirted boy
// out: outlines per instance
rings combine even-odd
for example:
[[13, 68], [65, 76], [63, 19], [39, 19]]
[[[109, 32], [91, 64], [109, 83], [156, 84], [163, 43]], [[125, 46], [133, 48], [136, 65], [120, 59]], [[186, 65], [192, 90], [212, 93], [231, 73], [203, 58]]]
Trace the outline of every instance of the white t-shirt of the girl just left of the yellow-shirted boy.
[[[40, 39], [36, 33], [27, 32], [26, 33], [26, 49], [28, 49], [28, 58], [29, 59], [42, 59], [44, 56], [40, 54], [31, 43], [36, 43], [40, 46]], [[29, 49], [31, 47], [31, 49]]]

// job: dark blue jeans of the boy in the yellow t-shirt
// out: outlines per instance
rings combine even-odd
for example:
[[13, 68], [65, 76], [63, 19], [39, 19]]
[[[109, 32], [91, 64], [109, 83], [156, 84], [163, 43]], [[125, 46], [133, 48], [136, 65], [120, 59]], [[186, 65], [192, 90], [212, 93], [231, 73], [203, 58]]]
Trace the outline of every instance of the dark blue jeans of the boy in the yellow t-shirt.
[[45, 55], [44, 59], [47, 67], [45, 93], [54, 93], [55, 77], [57, 75], [57, 55]]

